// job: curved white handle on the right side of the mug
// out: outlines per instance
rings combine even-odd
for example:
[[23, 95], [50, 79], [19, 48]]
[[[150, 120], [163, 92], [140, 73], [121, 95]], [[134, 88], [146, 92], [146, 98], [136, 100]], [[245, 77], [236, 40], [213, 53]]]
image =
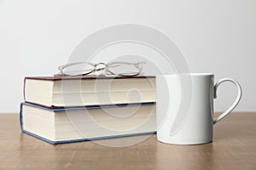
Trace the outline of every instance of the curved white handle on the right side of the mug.
[[227, 116], [228, 114], [230, 114], [231, 111], [233, 111], [236, 107], [236, 105], [238, 105], [240, 99], [241, 99], [241, 86], [238, 82], [236, 82], [235, 80], [231, 79], [231, 78], [224, 78], [224, 79], [221, 79], [220, 81], [218, 81], [215, 86], [214, 86], [214, 99], [217, 99], [217, 88], [218, 86], [222, 83], [222, 82], [233, 82], [237, 89], [238, 89], [238, 94], [237, 94], [237, 97], [236, 97], [236, 100], [234, 101], [234, 103], [230, 106], [230, 108], [227, 110], [227, 111], [224, 111], [220, 116], [216, 117], [214, 120], [213, 120], [213, 124], [217, 123], [218, 121], [220, 121], [221, 119], [224, 118], [224, 116]]

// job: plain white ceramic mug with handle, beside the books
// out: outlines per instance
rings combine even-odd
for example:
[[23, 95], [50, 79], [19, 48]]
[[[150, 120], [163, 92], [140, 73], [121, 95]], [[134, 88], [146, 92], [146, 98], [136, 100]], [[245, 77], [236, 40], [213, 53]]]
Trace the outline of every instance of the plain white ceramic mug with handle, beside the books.
[[[238, 88], [235, 102], [214, 118], [213, 100], [222, 82]], [[156, 76], [157, 139], [168, 144], [204, 144], [212, 142], [213, 125], [227, 116], [241, 99], [241, 86], [224, 78], [214, 84], [213, 74]]]

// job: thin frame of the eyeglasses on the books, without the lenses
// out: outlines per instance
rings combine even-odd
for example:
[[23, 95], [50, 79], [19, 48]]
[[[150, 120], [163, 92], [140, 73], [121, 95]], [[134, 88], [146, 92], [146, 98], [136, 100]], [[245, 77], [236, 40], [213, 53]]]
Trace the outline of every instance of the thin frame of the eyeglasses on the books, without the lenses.
[[[67, 68], [68, 66], [72, 66], [72, 65], [81, 65], [81, 64], [88, 64], [88, 65], [91, 65], [94, 67], [94, 69], [92, 71], [89, 71], [87, 73], [84, 73], [84, 74], [78, 74], [78, 75], [68, 75], [68, 74], [65, 74], [64, 73], [64, 69]], [[114, 65], [114, 64], [120, 64], [120, 65], [134, 65], [138, 71], [136, 74], [133, 74], [133, 75], [125, 75], [125, 74], [122, 74], [122, 73], [119, 73], [119, 74], [115, 74], [113, 71], [109, 71], [108, 67], [110, 65]], [[69, 64], [66, 64], [66, 65], [60, 65], [58, 66], [58, 70], [60, 71], [58, 74], [55, 74], [54, 76], [55, 77], [76, 77], [76, 76], [86, 76], [86, 75], [90, 75], [91, 73], [93, 72], [96, 72], [96, 71], [102, 71], [102, 70], [105, 70], [106, 74], [107, 75], [115, 75], [115, 76], [120, 76], [120, 77], [136, 77], [140, 74], [142, 74], [142, 70], [143, 70], [143, 67], [140, 66], [140, 65], [143, 65], [143, 64], [146, 64], [145, 61], [141, 61], [141, 62], [137, 62], [137, 63], [131, 63], [131, 62], [124, 62], [124, 61], [113, 61], [113, 62], [109, 62], [109, 63], [97, 63], [97, 64], [93, 64], [93, 63], [90, 63], [90, 62], [74, 62], [74, 63], [69, 63]], [[105, 67], [103, 68], [96, 68], [98, 65], [104, 65]], [[110, 74], [109, 74], [110, 73]]]

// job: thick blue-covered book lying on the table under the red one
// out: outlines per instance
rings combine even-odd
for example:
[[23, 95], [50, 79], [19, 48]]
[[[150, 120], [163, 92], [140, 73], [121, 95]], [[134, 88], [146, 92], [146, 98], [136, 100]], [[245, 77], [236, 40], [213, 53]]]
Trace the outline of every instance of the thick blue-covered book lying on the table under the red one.
[[49, 109], [21, 103], [20, 127], [50, 144], [155, 133], [155, 105], [105, 105]]

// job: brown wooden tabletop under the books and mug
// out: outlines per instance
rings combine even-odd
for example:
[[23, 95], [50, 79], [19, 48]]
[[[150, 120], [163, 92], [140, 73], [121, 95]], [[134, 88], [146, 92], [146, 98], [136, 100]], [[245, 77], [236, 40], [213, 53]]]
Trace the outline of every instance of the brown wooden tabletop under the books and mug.
[[162, 144], [152, 135], [116, 148], [94, 142], [47, 144], [20, 133], [17, 114], [1, 114], [0, 169], [255, 170], [256, 113], [233, 113], [218, 122], [212, 144]]

